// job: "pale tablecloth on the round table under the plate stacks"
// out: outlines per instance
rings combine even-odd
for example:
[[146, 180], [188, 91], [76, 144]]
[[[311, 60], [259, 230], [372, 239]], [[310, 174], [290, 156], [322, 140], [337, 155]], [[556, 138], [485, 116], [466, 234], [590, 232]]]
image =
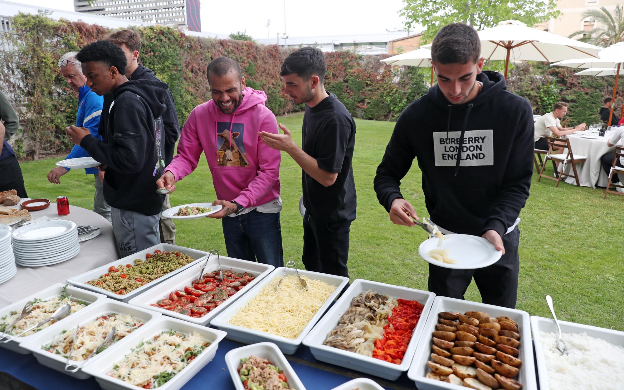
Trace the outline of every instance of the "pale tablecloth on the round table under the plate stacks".
[[0, 284], [0, 308], [54, 283], [66, 283], [70, 276], [79, 275], [118, 258], [112, 225], [101, 215], [86, 208], [70, 205], [69, 214], [59, 217], [56, 203], [51, 203], [50, 207], [44, 210], [31, 213], [32, 219], [46, 215], [50, 218], [73, 221], [77, 225], [94, 225], [102, 228], [102, 232], [91, 240], [81, 242], [80, 253], [71, 260], [42, 267], [17, 265], [17, 274]]

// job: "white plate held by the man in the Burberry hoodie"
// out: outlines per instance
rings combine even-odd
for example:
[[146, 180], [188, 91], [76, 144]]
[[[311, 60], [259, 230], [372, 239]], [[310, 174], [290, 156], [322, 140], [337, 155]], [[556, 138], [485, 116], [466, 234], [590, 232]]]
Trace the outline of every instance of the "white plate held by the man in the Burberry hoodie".
[[[467, 234], [447, 234], [442, 246], [437, 246], [438, 238], [432, 237], [422, 241], [418, 246], [418, 254], [425, 261], [444, 268], [455, 270], [474, 270], [483, 268], [499, 261], [502, 251], [496, 250], [490, 241], [483, 237]], [[449, 257], [456, 260], [455, 264], [442, 263], [429, 256], [432, 249], [448, 249]]]

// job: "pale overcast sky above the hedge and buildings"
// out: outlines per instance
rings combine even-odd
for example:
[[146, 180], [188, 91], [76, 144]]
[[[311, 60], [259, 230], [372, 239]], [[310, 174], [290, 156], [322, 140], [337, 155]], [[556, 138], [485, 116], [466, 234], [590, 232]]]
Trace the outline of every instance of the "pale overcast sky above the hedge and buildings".
[[[74, 11], [73, 0], [12, 1]], [[246, 29], [256, 39], [284, 32], [284, 0], [202, 0], [201, 4], [203, 31], [230, 34]], [[286, 32], [295, 37], [403, 29], [402, 7], [402, 0], [286, 0]], [[267, 19], [271, 19], [268, 32]]]

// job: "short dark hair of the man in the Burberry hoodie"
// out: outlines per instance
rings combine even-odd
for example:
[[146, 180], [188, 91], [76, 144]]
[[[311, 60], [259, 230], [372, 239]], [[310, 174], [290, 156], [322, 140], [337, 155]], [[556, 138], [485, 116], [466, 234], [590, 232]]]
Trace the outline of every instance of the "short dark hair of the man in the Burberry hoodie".
[[437, 32], [431, 44], [431, 61], [439, 64], [467, 64], [479, 61], [481, 41], [477, 31], [463, 23], [452, 23]]

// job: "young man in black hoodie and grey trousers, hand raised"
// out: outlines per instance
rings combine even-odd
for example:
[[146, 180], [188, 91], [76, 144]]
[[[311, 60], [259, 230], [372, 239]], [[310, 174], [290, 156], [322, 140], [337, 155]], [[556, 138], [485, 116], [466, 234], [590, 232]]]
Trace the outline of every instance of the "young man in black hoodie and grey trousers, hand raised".
[[128, 256], [160, 243], [164, 195], [156, 192], [156, 180], [165, 168], [161, 115], [167, 84], [128, 80], [124, 52], [110, 41], [93, 42], [76, 58], [87, 86], [100, 96], [110, 93], [112, 102], [100, 133], [103, 141], [83, 127], [68, 127], [67, 135], [104, 165], [104, 198], [112, 208], [120, 254]]

